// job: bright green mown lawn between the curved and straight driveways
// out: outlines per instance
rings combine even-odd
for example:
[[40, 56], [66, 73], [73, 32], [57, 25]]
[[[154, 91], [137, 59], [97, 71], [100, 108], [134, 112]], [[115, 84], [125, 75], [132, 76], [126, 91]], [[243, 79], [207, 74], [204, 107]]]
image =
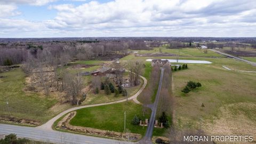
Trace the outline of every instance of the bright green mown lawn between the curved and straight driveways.
[[146, 127], [132, 125], [131, 121], [134, 115], [137, 115], [144, 121], [145, 118], [149, 118], [149, 113], [144, 117], [142, 115], [142, 106], [132, 101], [84, 108], [76, 111], [76, 116], [70, 121], [71, 125], [116, 132], [124, 131], [124, 111], [126, 111], [126, 129], [129, 129], [132, 133], [140, 133], [142, 135], [146, 132]]

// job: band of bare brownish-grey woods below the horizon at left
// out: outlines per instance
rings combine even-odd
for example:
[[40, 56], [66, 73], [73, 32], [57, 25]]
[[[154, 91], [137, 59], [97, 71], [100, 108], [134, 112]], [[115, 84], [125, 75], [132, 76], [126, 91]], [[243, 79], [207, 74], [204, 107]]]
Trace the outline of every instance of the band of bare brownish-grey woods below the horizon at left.
[[[100, 41], [78, 41], [78, 42], [37, 42], [37, 43], [8, 43], [1, 45], [0, 65], [19, 64], [27, 60], [28, 54], [35, 58], [41, 53], [48, 53], [51, 58], [61, 60], [90, 60], [101, 55], [110, 53], [125, 53], [127, 49], [147, 50], [144, 41], [129, 42], [100, 42]], [[58, 61], [57, 63], [61, 63]]]

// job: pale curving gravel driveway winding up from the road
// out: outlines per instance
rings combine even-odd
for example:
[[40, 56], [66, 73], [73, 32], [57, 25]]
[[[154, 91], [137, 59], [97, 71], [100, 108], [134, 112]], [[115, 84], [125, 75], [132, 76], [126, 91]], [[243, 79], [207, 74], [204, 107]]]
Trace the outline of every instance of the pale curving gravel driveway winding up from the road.
[[[147, 79], [143, 76], [140, 76], [144, 83], [141, 86], [140, 90], [135, 93], [134, 95], [132, 95], [132, 97], [129, 97], [128, 100], [133, 100], [135, 103], [140, 103], [137, 100], [137, 97], [140, 95], [140, 93], [145, 89], [146, 85], [147, 85]], [[77, 109], [81, 109], [81, 108], [89, 108], [89, 107], [97, 107], [97, 106], [103, 106], [103, 105], [110, 105], [110, 104], [114, 104], [114, 103], [119, 103], [119, 102], [124, 102], [126, 101], [126, 99], [122, 99], [122, 100], [117, 100], [117, 101], [113, 101], [113, 102], [107, 102], [107, 103], [98, 103], [98, 104], [93, 104], [93, 105], [86, 105], [86, 106], [79, 106], [79, 107], [74, 107], [74, 108], [70, 108], [68, 110], [62, 111], [60, 114], [58, 114], [57, 116], [53, 117], [52, 119], [50, 119], [48, 122], [46, 122], [43, 125], [37, 126], [39, 129], [44, 129], [44, 130], [52, 130], [52, 125], [55, 121], [57, 121], [57, 119], [59, 119], [60, 117], [62, 117], [63, 115], [66, 115], [67, 113], [77, 110]]]

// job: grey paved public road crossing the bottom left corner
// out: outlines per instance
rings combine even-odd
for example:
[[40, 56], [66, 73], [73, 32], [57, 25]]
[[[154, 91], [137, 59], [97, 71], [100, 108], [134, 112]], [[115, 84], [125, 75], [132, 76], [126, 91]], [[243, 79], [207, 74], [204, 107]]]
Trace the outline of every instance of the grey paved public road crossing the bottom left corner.
[[45, 142], [52, 142], [52, 143], [74, 143], [74, 144], [129, 143], [126, 141], [91, 137], [91, 136], [82, 135], [82, 134], [73, 134], [73, 133], [59, 132], [59, 131], [52, 131], [52, 130], [42, 130], [37, 127], [0, 124], [0, 134], [7, 135], [11, 133], [17, 134], [18, 137], [29, 138], [29, 139], [45, 141]]

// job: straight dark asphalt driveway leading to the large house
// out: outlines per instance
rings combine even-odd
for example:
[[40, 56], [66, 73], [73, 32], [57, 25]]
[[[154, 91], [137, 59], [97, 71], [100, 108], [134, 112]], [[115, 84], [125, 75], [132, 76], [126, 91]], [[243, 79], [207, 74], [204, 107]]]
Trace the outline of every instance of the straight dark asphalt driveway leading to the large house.
[[153, 130], [154, 130], [154, 123], [155, 123], [155, 119], [156, 119], [157, 105], [158, 105], [159, 98], [160, 98], [163, 75], [164, 75], [164, 68], [161, 69], [161, 77], [160, 77], [160, 81], [159, 81], [159, 85], [158, 85], [158, 90], [156, 93], [156, 99], [155, 99], [153, 106], [151, 107], [152, 112], [151, 112], [151, 116], [149, 119], [147, 131], [146, 131], [145, 137], [140, 141], [140, 143], [147, 143], [147, 144], [152, 143], [151, 137], [152, 137]]

